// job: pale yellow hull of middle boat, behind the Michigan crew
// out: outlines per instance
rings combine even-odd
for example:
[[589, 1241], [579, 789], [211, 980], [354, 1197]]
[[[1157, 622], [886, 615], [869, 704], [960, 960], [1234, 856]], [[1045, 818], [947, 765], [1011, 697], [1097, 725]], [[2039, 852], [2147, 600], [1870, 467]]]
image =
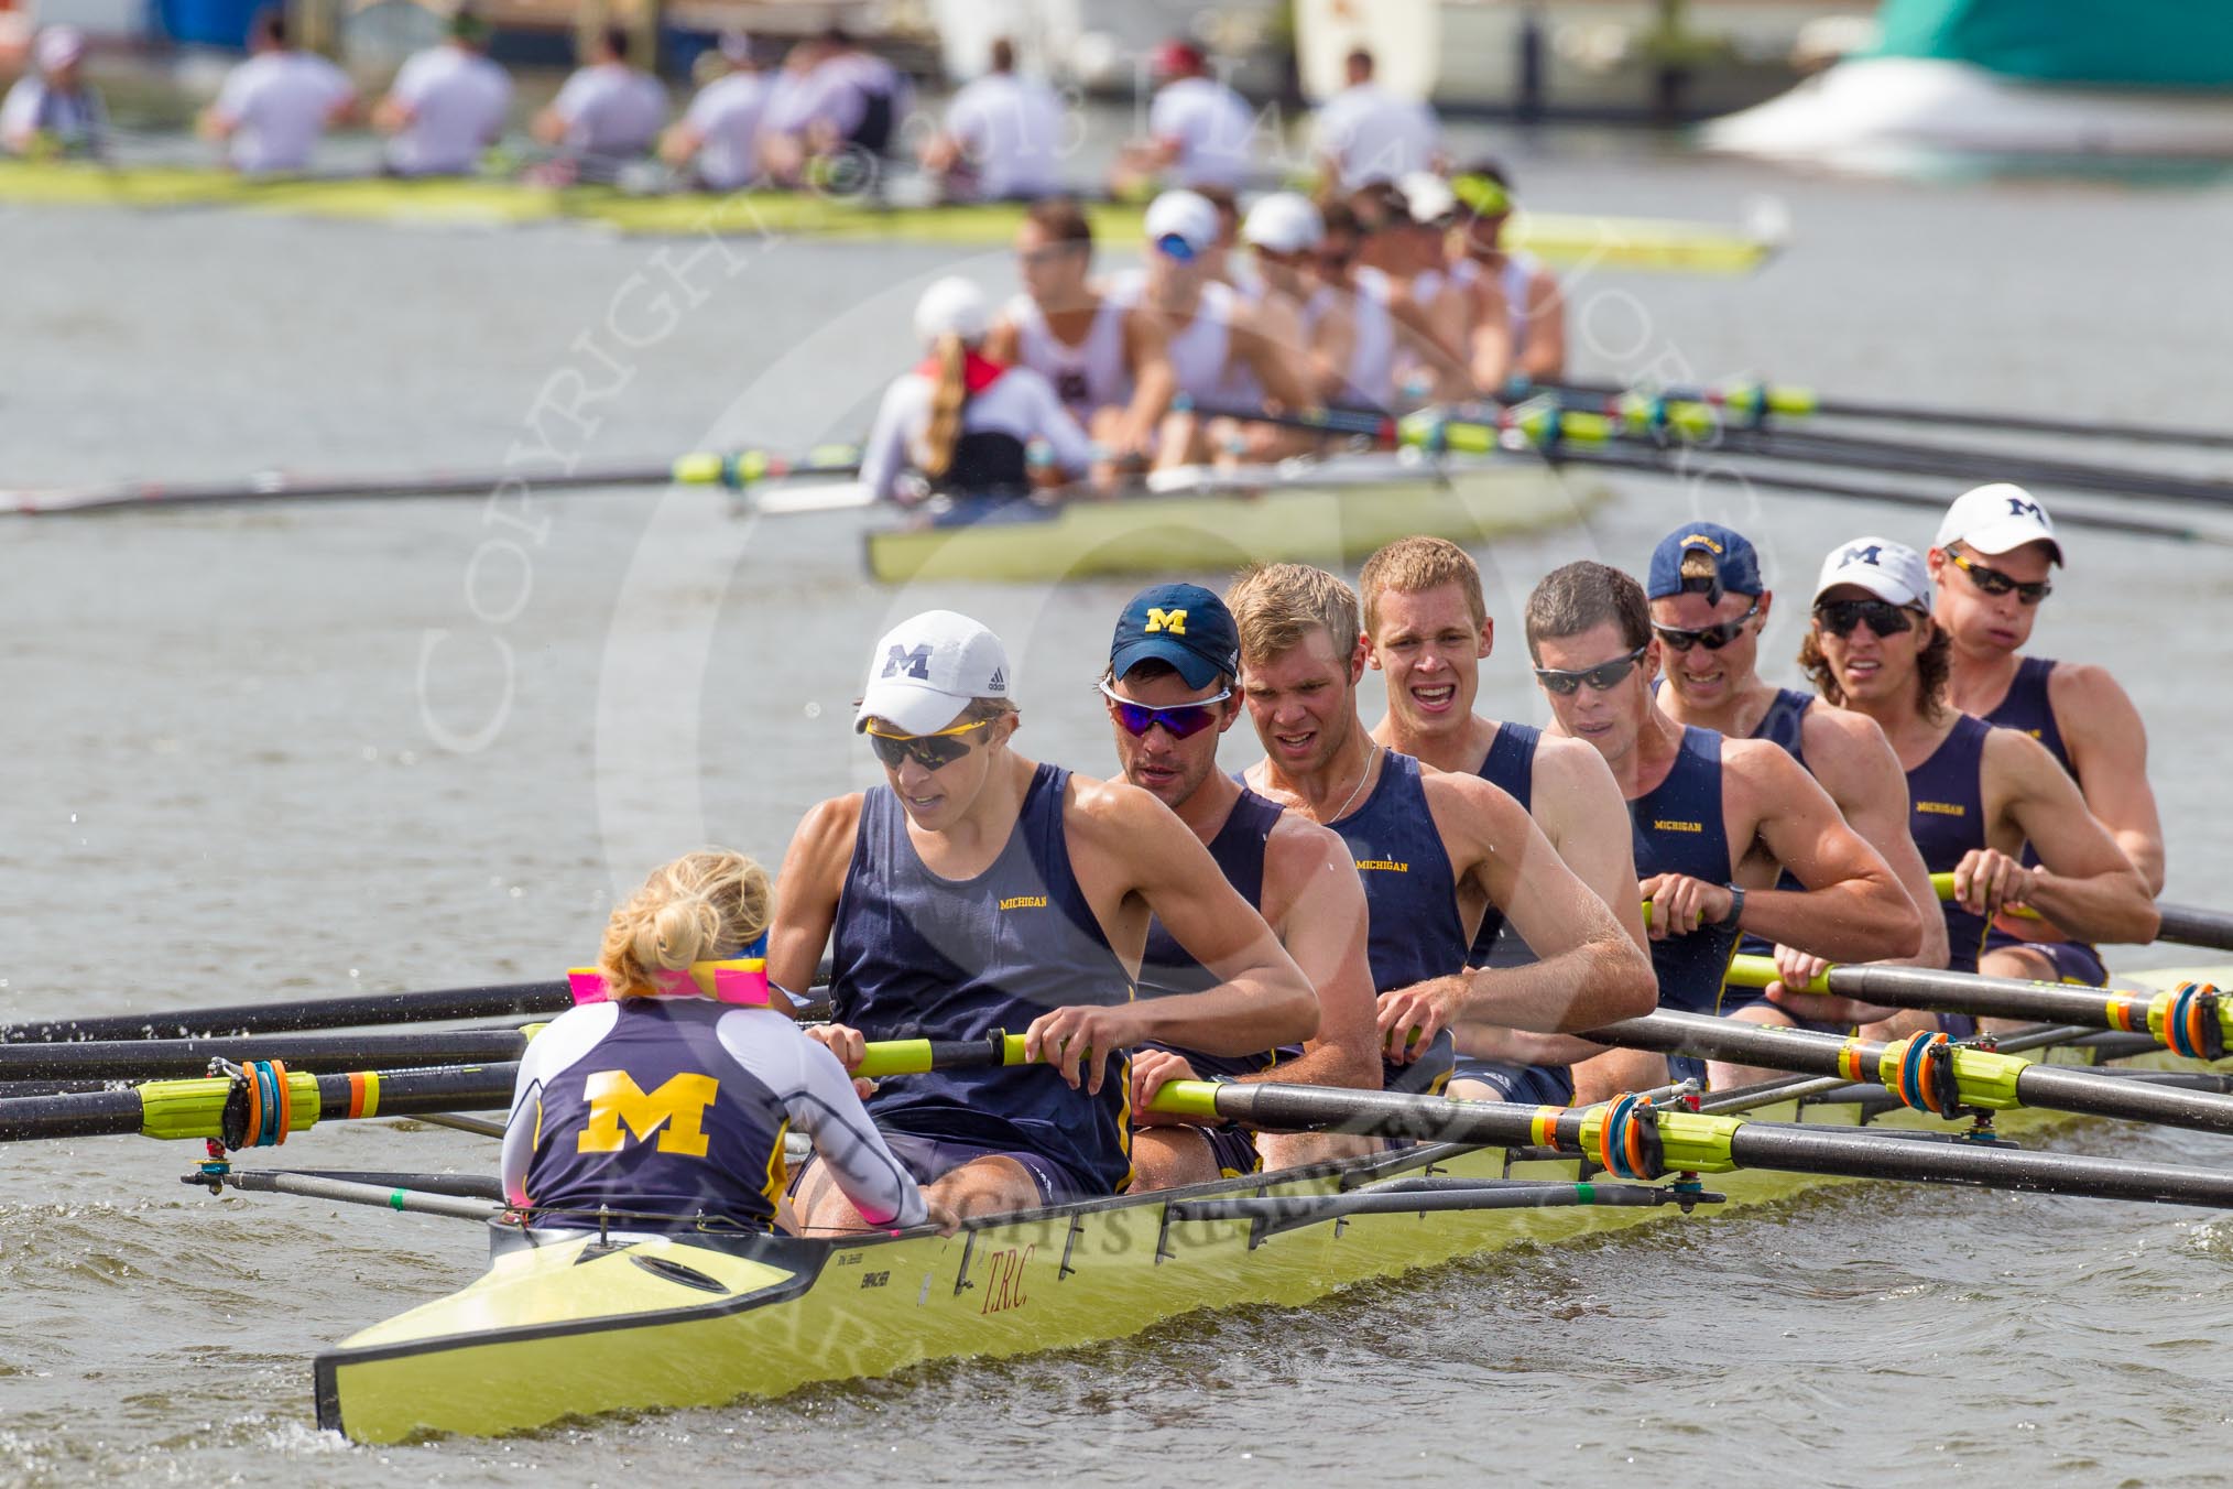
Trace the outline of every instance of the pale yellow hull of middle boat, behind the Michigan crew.
[[1460, 545], [1579, 522], [1606, 487], [1532, 460], [1451, 462], [1434, 480], [1391, 458], [1219, 475], [1181, 489], [1003, 518], [889, 527], [866, 536], [869, 574], [909, 580], [1058, 580], [1114, 574], [1230, 574], [1246, 563], [1360, 560], [1398, 538]]

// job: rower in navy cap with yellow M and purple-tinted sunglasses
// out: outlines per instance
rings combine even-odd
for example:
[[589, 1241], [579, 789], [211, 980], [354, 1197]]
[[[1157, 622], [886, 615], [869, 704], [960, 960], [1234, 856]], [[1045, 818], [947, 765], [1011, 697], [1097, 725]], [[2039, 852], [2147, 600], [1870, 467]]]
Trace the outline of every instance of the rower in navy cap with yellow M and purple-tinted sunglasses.
[[[1123, 779], [1179, 815], [1226, 882], [1248, 900], [1317, 989], [1317, 1036], [1248, 1056], [1170, 1045], [1132, 1054], [1134, 1190], [1206, 1183], [1219, 1174], [1293, 1168], [1360, 1152], [1355, 1139], [1250, 1134], [1235, 1123], [1150, 1118], [1166, 1080], [1288, 1080], [1378, 1089], [1373, 980], [1364, 960], [1364, 886], [1335, 833], [1288, 813], [1217, 768], [1217, 741], [1242, 717], [1239, 634], [1201, 585], [1141, 589], [1116, 618], [1101, 674]], [[1199, 993], [1217, 973], [1148, 926], [1139, 996]]]

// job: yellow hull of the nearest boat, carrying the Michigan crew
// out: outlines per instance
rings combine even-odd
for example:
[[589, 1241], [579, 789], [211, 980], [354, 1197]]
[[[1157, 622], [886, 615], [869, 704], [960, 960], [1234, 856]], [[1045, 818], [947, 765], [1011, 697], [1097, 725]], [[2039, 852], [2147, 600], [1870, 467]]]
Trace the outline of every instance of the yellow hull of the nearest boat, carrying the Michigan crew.
[[[2135, 980], [2168, 989], [2224, 976], [2191, 969]], [[2130, 1036], [2097, 1036], [2045, 1054], [2095, 1063], [2128, 1045]], [[2177, 1065], [2164, 1051], [2128, 1063]], [[1771, 1094], [1746, 1112], [1760, 1121], [1943, 1130], [1907, 1107], [1885, 1109], [1880, 1092], [1840, 1087], [1802, 1101], [1784, 1085], [1762, 1092]], [[1740, 1096], [1731, 1105], [1744, 1105]], [[2057, 1121], [2066, 1118], [2003, 1112], [1999, 1132], [2030, 1134]], [[1505, 1181], [1552, 1188], [1514, 1188], [1505, 1192], [1512, 1208], [1485, 1208], [1494, 1197], [1483, 1188]], [[1726, 1203], [1760, 1203], [1831, 1181], [1742, 1170], [1715, 1183]], [[1282, 1197], [1309, 1203], [1257, 1203]], [[317, 1357], [317, 1415], [360, 1442], [397, 1442], [509, 1433], [601, 1411], [710, 1406], [927, 1360], [1128, 1337], [1197, 1308], [1306, 1304], [1355, 1281], [1715, 1201], [1679, 1183], [1603, 1183], [1572, 1159], [1434, 1145], [1284, 1179], [1056, 1205], [951, 1239], [601, 1241], [498, 1228], [498, 1255], [480, 1281]], [[585, 1360], [594, 1368], [583, 1368]]]

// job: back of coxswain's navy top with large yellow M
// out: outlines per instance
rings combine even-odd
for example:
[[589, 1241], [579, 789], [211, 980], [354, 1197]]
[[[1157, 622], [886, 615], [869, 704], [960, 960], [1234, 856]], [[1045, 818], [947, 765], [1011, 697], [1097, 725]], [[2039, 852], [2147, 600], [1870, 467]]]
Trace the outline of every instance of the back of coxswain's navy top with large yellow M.
[[[543, 1085], [527, 1197], [540, 1210], [612, 1205], [632, 1230], [708, 1217], [766, 1230], [784, 1185], [782, 1098], [721, 1047], [730, 1009], [627, 998], [590, 1056]], [[558, 1219], [558, 1217], [554, 1217]]]

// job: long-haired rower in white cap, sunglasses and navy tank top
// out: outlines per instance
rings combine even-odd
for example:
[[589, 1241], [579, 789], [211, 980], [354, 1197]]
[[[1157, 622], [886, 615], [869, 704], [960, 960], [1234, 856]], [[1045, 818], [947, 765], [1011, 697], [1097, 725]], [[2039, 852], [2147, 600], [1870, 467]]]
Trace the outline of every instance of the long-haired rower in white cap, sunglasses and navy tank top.
[[[1978, 971], [1985, 929], [2010, 906], [2088, 940], [2153, 940], [2148, 886], [2070, 772], [2023, 730], [1992, 728], [1947, 701], [1949, 650], [1920, 554], [1889, 538], [1829, 551], [1800, 665], [1833, 705], [1876, 719], [1907, 770], [1916, 848], [1932, 873], [1954, 873], [1949, 967]], [[2025, 846], [2039, 853], [2036, 868], [2023, 864]]]

